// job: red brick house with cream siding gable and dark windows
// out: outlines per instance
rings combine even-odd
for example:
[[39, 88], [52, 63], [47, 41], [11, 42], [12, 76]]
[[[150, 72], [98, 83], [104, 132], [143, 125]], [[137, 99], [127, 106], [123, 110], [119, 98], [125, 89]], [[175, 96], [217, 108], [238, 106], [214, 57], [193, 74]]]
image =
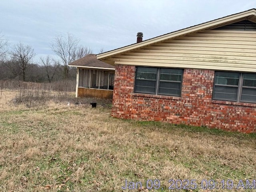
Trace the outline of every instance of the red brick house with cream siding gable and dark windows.
[[256, 132], [256, 9], [97, 58], [115, 66], [113, 117]]

